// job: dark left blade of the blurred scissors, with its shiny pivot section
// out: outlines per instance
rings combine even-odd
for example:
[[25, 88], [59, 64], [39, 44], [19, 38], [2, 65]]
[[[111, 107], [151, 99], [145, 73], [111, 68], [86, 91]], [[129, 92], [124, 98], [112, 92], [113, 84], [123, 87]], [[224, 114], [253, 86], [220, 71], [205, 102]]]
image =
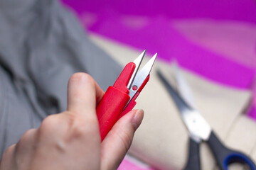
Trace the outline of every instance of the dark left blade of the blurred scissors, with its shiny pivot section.
[[176, 104], [179, 113], [181, 113], [181, 118], [186, 125], [191, 138], [196, 142], [200, 142], [201, 140], [208, 140], [211, 132], [210, 125], [206, 122], [206, 120], [204, 120], [198, 111], [191, 108], [191, 106], [189, 106], [186, 101], [184, 101], [182, 96], [176, 92], [174, 87], [169, 84], [161, 72], [157, 71], [157, 74], [166, 87], [166, 90], [174, 99], [174, 103]]

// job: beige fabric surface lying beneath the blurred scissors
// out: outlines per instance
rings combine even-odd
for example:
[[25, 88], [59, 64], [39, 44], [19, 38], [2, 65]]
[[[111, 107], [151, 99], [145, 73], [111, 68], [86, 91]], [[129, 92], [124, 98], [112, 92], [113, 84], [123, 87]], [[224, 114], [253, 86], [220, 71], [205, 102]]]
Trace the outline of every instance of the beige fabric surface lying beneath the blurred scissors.
[[[123, 66], [142, 51], [99, 35], [90, 38]], [[154, 54], [147, 54], [143, 64]], [[135, 108], [144, 109], [144, 120], [134, 136], [129, 154], [158, 169], [183, 169], [188, 155], [188, 132], [173, 101], [156, 76], [161, 69], [166, 77], [173, 74], [171, 64], [157, 61], [149, 83], [137, 98]], [[250, 91], [232, 89], [182, 69], [193, 92], [198, 111], [210, 123], [225, 145], [238, 149], [256, 162], [256, 122], [244, 115]], [[208, 145], [201, 145], [202, 169], [218, 169]], [[231, 169], [243, 169], [233, 165]]]

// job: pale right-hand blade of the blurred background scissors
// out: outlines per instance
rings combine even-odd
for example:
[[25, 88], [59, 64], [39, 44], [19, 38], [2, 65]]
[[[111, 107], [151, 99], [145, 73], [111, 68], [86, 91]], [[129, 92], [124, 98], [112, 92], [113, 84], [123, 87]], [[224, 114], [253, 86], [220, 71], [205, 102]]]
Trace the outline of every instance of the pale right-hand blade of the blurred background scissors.
[[188, 103], [191, 108], [196, 108], [195, 101], [193, 100], [193, 95], [191, 89], [189, 88], [186, 79], [184, 79], [181, 69], [179, 68], [178, 62], [174, 61], [174, 75], [176, 79], [178, 93], [182, 98]]

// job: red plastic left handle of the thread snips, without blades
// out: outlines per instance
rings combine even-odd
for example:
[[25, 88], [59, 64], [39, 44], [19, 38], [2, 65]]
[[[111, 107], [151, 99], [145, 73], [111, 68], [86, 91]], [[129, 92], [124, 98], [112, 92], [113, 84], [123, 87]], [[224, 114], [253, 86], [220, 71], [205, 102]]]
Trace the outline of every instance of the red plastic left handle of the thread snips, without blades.
[[129, 101], [127, 84], [132, 77], [135, 67], [134, 62], [128, 63], [117, 81], [115, 81], [114, 86], [110, 86], [107, 89], [102, 100], [97, 105], [96, 112], [100, 125], [101, 140], [104, 140], [107, 133], [110, 132]]

